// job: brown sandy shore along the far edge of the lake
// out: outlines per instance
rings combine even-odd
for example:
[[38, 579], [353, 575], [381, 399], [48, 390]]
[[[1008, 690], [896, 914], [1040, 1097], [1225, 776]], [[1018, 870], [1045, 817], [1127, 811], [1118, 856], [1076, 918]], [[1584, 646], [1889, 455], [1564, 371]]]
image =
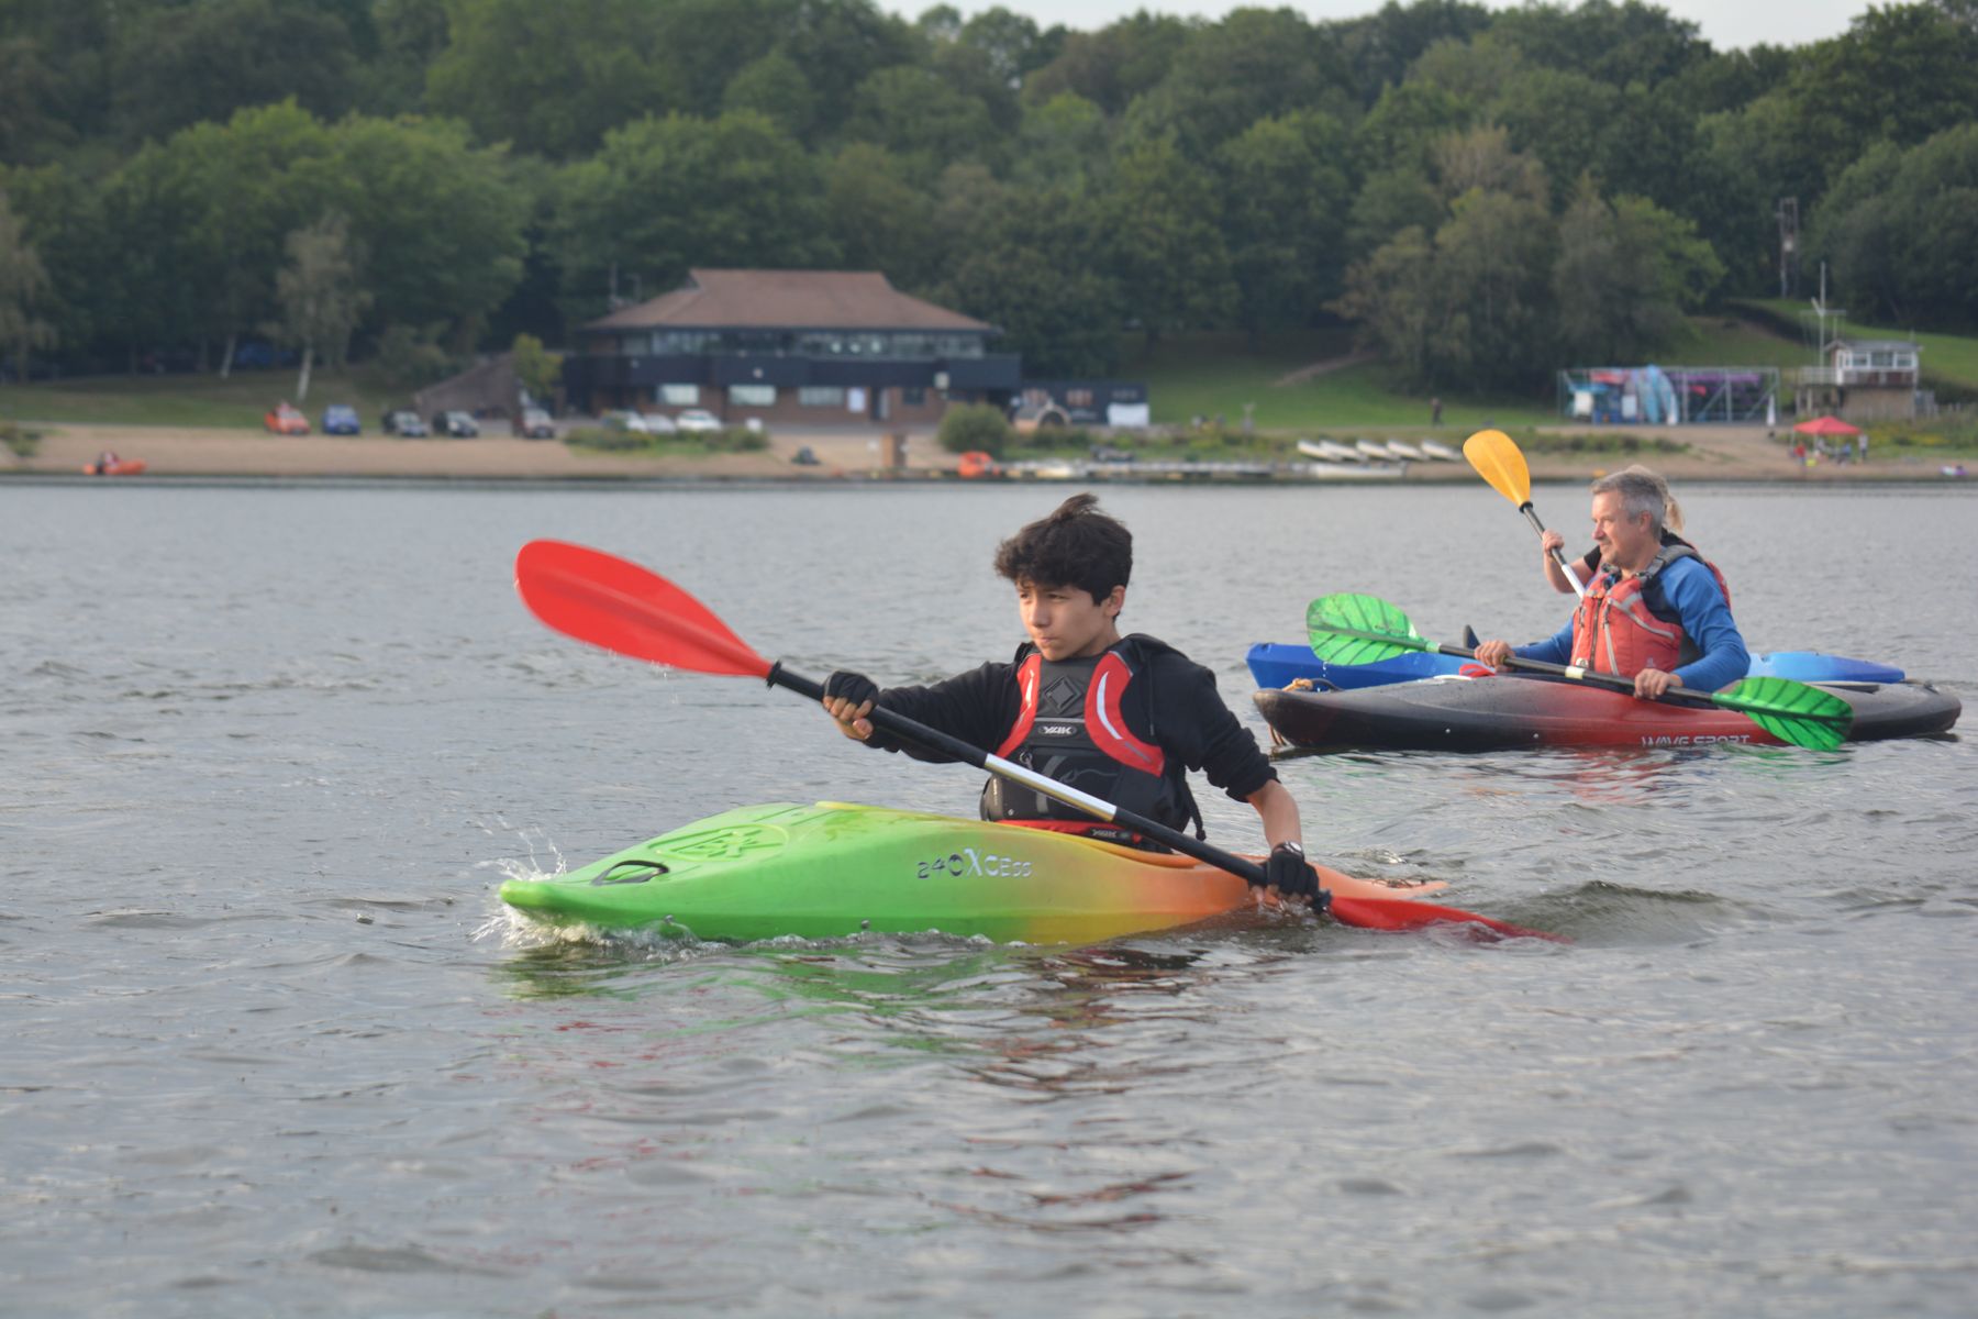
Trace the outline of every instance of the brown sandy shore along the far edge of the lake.
[[[265, 435], [239, 429], [136, 427], [136, 425], [40, 425], [42, 447], [32, 459], [0, 449], [0, 477], [79, 475], [105, 449], [125, 459], [144, 459], [148, 477], [423, 477], [471, 481], [649, 479], [649, 481], [833, 481], [876, 473], [876, 431], [783, 431], [765, 453], [704, 459], [570, 449], [560, 441], [512, 439], [392, 439], [378, 435]], [[1571, 433], [1561, 429], [1561, 433]], [[1925, 481], [1938, 479], [1936, 465], [1919, 457], [1867, 465], [1818, 465], [1802, 471], [1760, 427], [1683, 427], [1691, 445], [1681, 455], [1646, 455], [1642, 461], [1671, 481]], [[1448, 443], [1462, 435], [1450, 433]], [[1648, 435], [1644, 435], [1648, 439]], [[815, 467], [791, 463], [809, 447]], [[1636, 461], [1620, 453], [1529, 453], [1537, 481], [1582, 481]], [[908, 473], [953, 471], [930, 433], [908, 437]], [[1468, 463], [1414, 463], [1404, 481], [1476, 481]]]

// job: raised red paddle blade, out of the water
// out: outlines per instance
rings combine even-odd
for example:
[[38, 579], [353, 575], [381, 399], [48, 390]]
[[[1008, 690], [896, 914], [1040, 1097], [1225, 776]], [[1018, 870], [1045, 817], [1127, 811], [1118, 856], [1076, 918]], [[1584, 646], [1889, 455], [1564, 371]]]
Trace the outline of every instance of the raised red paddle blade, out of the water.
[[765, 678], [769, 660], [706, 605], [637, 564], [562, 540], [532, 540], [514, 556], [514, 589], [546, 625], [633, 659]]

